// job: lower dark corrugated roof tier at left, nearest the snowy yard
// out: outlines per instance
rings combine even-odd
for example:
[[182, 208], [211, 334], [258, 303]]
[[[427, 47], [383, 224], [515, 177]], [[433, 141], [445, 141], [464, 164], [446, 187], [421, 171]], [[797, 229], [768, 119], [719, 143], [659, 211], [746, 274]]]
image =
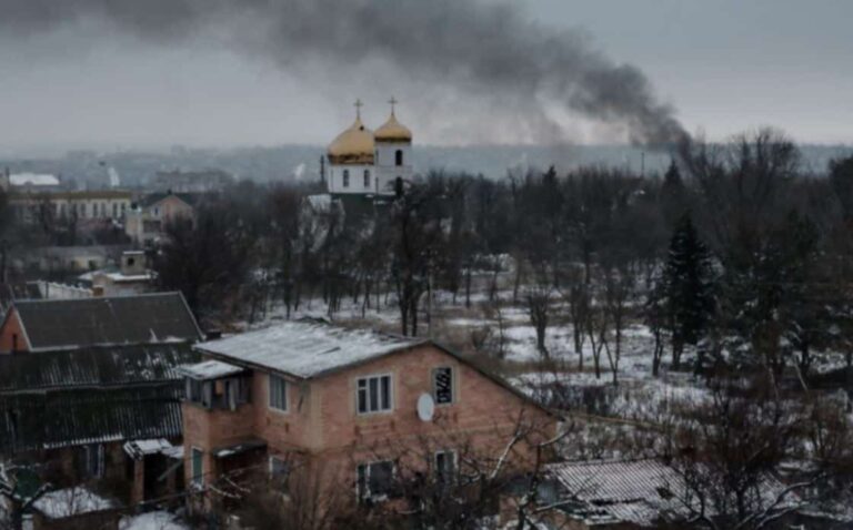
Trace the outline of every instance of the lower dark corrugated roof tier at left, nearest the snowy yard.
[[182, 434], [181, 384], [111, 390], [64, 390], [0, 396], [0, 451]]

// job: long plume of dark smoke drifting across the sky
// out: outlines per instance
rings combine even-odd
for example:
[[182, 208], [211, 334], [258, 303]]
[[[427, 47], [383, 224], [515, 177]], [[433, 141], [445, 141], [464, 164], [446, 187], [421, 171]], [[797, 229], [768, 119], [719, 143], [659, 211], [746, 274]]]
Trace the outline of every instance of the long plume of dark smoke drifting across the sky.
[[[673, 144], [686, 133], [645, 75], [616, 64], [576, 33], [478, 0], [0, 0], [0, 30], [49, 31], [109, 21], [161, 44], [220, 34], [240, 51], [287, 68], [303, 61], [353, 68], [384, 61], [419, 79], [533, 105], [524, 128], [548, 122], [545, 103], [608, 124], [633, 142]], [[363, 72], [369, 75], [369, 72]], [[526, 120], [523, 115], [521, 120]], [[551, 123], [553, 124], [553, 122]], [[545, 123], [545, 125], [548, 125]]]

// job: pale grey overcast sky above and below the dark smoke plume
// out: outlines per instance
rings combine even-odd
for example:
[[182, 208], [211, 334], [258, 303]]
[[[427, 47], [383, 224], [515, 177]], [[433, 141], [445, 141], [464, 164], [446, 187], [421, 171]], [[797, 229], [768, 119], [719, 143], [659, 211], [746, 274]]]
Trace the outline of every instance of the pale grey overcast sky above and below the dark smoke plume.
[[[2, 6], [3, 0], [0, 0]], [[393, 2], [388, 2], [393, 4]], [[795, 140], [853, 143], [850, 0], [516, 0], [524, 17], [582, 32], [645, 72], [690, 132], [712, 139], [775, 125]], [[281, 67], [200, 33], [160, 45], [79, 21], [29, 34], [0, 28], [0, 153], [328, 143], [365, 102], [370, 126], [400, 101], [415, 141], [531, 142], [476, 90], [417, 82], [370, 61]], [[506, 106], [515, 102], [506, 101]], [[579, 143], [612, 129], [552, 109]], [[516, 111], [518, 112], [518, 111]]]

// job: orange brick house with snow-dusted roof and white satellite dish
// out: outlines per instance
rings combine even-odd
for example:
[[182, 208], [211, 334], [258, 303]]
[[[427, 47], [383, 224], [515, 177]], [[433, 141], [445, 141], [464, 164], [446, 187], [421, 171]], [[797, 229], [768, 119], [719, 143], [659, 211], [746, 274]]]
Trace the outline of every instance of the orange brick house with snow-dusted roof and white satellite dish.
[[[400, 466], [449, 473], [462, 446], [506, 451], [520, 418], [539, 439], [556, 430], [555, 416], [431, 340], [299, 320], [195, 348], [207, 360], [182, 368], [184, 480], [199, 491], [298, 466], [354, 504], [383, 498]], [[508, 468], [528, 469], [528, 441]]]

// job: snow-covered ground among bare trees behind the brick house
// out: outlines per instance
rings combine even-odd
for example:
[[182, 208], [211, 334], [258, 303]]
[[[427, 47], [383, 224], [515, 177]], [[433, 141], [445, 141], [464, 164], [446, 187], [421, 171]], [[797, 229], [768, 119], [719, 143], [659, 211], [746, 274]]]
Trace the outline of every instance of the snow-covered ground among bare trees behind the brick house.
[[[568, 307], [554, 298], [545, 334], [548, 361], [536, 347], [536, 332], [523, 303], [523, 287], [519, 299], [513, 303], [511, 278], [503, 277], [504, 288], [490, 299], [484, 287], [489, 278], [480, 278], [480, 288], [471, 293], [470, 307], [460, 292], [455, 302], [451, 293], [435, 292], [432, 299], [431, 323], [425, 310], [420, 315], [419, 335], [432, 336], [435, 340], [454, 350], [476, 355], [479, 360], [491, 365], [521, 390], [540, 399], [553, 398], [553, 387], [559, 385], [563, 396], [559, 400], [568, 410], [620, 418], [631, 421], [655, 422], [670, 412], [695, 407], [706, 402], [709, 394], [689, 371], [692, 354], [685, 350], [682, 366], [688, 371], [670, 371], [670, 351], [664, 353], [658, 377], [652, 376], [652, 350], [654, 338], [649, 328], [636, 319], [629, 319], [622, 333], [622, 354], [616, 370], [618, 385], [613, 385], [608, 357], [600, 357], [600, 377], [593, 371], [592, 346], [589, 339], [583, 344], [583, 368], [574, 351], [573, 329], [568, 317]], [[341, 299], [340, 310], [333, 315], [327, 312], [322, 299], [303, 300], [291, 318], [329, 318], [338, 324], [367, 326], [390, 333], [400, 333], [400, 315], [393, 294], [381, 295], [377, 308], [375, 295], [370, 307], [363, 299]], [[424, 309], [426, 304], [422, 304]], [[264, 317], [245, 328], [267, 327], [283, 322], [287, 313], [277, 306]], [[612, 334], [609, 336], [614, 347]], [[842, 366], [842, 355], [824, 355], [815, 359], [814, 373], [823, 373]]]

